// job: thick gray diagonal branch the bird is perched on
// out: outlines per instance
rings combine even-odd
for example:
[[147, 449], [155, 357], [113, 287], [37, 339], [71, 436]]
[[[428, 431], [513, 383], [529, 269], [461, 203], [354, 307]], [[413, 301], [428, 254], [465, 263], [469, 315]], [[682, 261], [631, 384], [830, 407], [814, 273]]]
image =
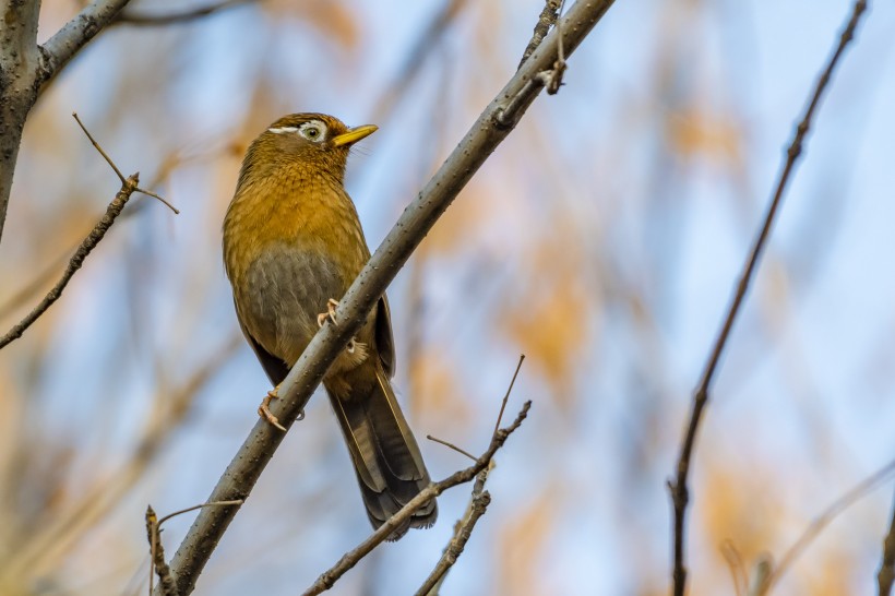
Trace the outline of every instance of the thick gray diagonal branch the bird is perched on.
[[[565, 55], [570, 56], [609, 10], [613, 0], [580, 0], [563, 19]], [[488, 156], [497, 148], [544, 88], [538, 74], [549, 72], [558, 58], [558, 31], [526, 60], [504, 88], [485, 108], [466, 136], [419, 195], [405, 208], [392, 231], [355, 279], [338, 307], [338, 326], [324, 325], [281, 385], [274, 415], [288, 428], [320, 384], [330, 363], [360, 327], [386, 286], [407, 262], [438, 218], [451, 205]], [[264, 467], [283, 441], [283, 432], [259, 420], [236, 453], [208, 501], [248, 498]], [[190, 594], [218, 540], [239, 508], [203, 510], [171, 560], [181, 595]]]

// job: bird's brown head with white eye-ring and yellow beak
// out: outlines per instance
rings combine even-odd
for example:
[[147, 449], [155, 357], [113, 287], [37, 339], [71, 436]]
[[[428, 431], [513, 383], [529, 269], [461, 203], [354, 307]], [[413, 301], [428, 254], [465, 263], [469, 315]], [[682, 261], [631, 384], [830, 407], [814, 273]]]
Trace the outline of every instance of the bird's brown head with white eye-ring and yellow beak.
[[252, 170], [263, 176], [259, 169], [289, 165], [342, 180], [348, 150], [375, 131], [373, 124], [348, 128], [338, 118], [325, 114], [284, 116], [252, 142], [242, 165], [243, 176]]

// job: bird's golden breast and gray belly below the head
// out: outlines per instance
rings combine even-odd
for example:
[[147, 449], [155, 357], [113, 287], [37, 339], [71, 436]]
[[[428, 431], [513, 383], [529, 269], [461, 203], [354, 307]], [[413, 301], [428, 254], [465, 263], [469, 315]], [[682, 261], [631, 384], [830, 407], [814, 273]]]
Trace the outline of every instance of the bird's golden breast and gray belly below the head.
[[224, 222], [224, 259], [240, 322], [291, 363], [317, 332], [317, 315], [330, 298], [342, 298], [369, 249], [341, 184], [268, 178], [237, 189]]

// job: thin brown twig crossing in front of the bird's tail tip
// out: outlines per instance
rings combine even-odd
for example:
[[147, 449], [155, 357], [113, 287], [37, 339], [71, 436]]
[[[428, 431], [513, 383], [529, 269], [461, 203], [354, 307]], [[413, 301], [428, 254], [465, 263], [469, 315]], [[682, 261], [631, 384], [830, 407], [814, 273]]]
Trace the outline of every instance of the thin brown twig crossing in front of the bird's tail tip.
[[476, 463], [472, 466], [467, 467], [466, 469], [462, 469], [449, 476], [448, 478], [441, 480], [440, 482], [430, 484], [428, 487], [422, 489], [419, 494], [410, 499], [406, 505], [404, 505], [401, 511], [392, 515], [389, 520], [385, 521], [373, 534], [363, 540], [360, 545], [356, 548], [346, 552], [338, 562], [330, 568], [327, 571], [322, 573], [320, 577], [303, 593], [303, 596], [314, 596], [317, 594], [321, 594], [331, 587], [342, 577], [349, 569], [355, 567], [358, 561], [360, 561], [363, 557], [370, 553], [378, 545], [384, 541], [395, 528], [401, 527], [410, 515], [416, 512], [420, 506], [425, 505], [430, 500], [434, 499], [449, 488], [455, 487], [457, 485], [462, 485], [468, 482], [473, 478], [478, 475], [482, 469], [487, 468], [490, 463], [491, 458], [494, 456], [494, 453], [498, 452], [500, 448], [503, 446], [503, 443], [506, 442], [506, 438], [515, 431], [525, 417], [528, 416], [528, 409], [532, 407], [532, 402], [525, 402], [522, 406], [522, 409], [516, 416], [516, 419], [506, 428], [502, 428], [498, 431], [494, 436], [491, 444], [481, 454], [481, 456], [476, 460]]

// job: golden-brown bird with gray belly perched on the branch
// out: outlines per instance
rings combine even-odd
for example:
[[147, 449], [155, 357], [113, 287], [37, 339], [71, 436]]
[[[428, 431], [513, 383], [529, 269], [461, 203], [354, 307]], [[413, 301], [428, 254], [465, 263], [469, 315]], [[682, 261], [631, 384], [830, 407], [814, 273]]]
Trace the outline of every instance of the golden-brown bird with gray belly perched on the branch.
[[[224, 265], [239, 325], [274, 390], [370, 259], [354, 202], [345, 190], [350, 147], [375, 132], [324, 114], [284, 116], [249, 146], [223, 228]], [[323, 378], [360, 486], [367, 515], [381, 526], [430, 484], [391, 378], [395, 345], [383, 294], [360, 331]], [[438, 516], [432, 499], [390, 539]]]

